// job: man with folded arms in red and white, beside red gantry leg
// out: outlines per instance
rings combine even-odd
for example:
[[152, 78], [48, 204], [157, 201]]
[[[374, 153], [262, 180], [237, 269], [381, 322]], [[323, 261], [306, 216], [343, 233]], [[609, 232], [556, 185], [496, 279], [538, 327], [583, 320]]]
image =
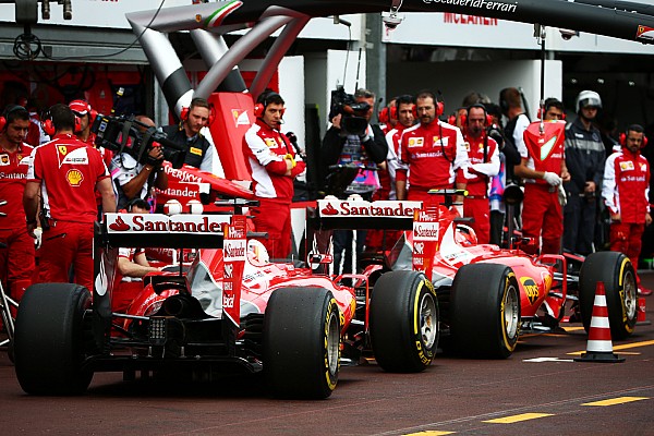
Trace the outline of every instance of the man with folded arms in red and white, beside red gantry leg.
[[269, 256], [287, 258], [291, 254], [293, 179], [306, 165], [279, 131], [284, 112], [281, 96], [268, 89], [256, 101], [256, 121], [243, 136], [245, 165], [252, 177], [252, 191], [259, 202], [251, 213], [256, 231], [268, 233], [262, 243]]

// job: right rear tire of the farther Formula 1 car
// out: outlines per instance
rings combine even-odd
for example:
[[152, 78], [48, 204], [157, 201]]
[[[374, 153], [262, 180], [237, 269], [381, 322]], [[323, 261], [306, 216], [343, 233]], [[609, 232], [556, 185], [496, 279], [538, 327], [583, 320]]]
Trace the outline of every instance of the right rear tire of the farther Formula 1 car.
[[506, 359], [520, 335], [520, 288], [513, 270], [470, 264], [457, 271], [450, 293], [455, 349], [475, 359]]

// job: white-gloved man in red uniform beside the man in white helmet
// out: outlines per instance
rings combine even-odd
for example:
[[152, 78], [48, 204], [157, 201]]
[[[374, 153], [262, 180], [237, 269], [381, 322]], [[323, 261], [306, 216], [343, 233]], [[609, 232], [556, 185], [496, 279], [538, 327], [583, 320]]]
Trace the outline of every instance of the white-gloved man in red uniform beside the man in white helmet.
[[[543, 109], [543, 121], [558, 122], [564, 118], [564, 104], [556, 98], [546, 99]], [[562, 143], [557, 144], [558, 148], [543, 160], [534, 159], [534, 156], [542, 156], [540, 147], [532, 149], [523, 141], [518, 148], [522, 159], [514, 171], [517, 177], [524, 179], [522, 233], [533, 240], [533, 245], [526, 245], [523, 250], [532, 254], [537, 254], [541, 237], [541, 254], [560, 254], [561, 251], [564, 213], [558, 186], [561, 182], [569, 182], [570, 174]]]

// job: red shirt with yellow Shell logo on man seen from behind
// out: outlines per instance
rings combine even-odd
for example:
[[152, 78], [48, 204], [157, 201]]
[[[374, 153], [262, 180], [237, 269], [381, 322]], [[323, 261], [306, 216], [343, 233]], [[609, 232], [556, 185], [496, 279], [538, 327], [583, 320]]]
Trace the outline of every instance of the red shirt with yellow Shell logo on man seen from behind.
[[75, 136], [57, 135], [34, 149], [27, 180], [41, 181], [44, 207], [56, 220], [93, 223], [96, 184], [109, 177], [100, 152]]

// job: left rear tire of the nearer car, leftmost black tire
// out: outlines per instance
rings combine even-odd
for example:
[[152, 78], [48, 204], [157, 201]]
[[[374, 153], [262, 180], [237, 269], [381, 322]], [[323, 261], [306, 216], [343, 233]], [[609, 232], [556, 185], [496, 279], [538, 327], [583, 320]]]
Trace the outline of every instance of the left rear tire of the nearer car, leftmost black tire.
[[27, 289], [16, 316], [16, 377], [31, 395], [80, 395], [93, 378], [83, 370], [86, 288], [41, 283]]

